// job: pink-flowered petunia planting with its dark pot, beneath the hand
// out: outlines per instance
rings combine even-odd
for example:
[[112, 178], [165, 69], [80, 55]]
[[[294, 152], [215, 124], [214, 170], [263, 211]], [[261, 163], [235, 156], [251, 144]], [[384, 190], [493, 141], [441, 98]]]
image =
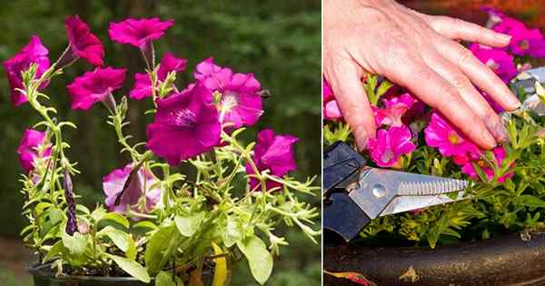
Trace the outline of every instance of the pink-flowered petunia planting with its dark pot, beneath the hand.
[[[512, 36], [499, 49], [471, 52], [513, 87], [524, 102], [504, 113], [509, 140], [490, 151], [469, 141], [440, 112], [406, 90], [368, 74], [363, 83], [378, 125], [363, 154], [383, 168], [469, 179], [469, 200], [379, 217], [356, 242], [324, 250], [326, 284], [508, 285], [543, 279], [545, 240], [545, 118], [535, 112], [545, 89], [515, 90], [517, 74], [545, 56], [537, 29], [488, 9], [490, 27]], [[519, 76], [520, 77], [520, 76]], [[324, 82], [325, 143], [353, 143], [350, 127]], [[542, 114], [541, 114], [542, 115]]]

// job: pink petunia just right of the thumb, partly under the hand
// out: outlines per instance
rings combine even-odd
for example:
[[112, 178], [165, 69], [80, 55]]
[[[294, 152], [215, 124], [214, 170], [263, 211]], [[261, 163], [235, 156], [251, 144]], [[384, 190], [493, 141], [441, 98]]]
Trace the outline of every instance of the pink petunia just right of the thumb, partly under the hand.
[[403, 122], [401, 117], [405, 114], [417, 101], [411, 94], [401, 94], [391, 97], [390, 99], [382, 100], [383, 108], [372, 106], [377, 126], [390, 125], [401, 126]]

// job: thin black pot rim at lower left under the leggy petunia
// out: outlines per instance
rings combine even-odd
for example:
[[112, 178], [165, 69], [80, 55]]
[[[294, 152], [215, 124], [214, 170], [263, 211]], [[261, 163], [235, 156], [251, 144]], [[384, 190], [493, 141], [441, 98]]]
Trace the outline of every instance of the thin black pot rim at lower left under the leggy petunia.
[[[117, 277], [117, 276], [81, 276], [81, 275], [63, 275], [56, 276], [54, 271], [51, 271], [51, 262], [40, 263], [35, 262], [28, 266], [28, 271], [35, 277], [45, 278], [45, 279], [55, 279], [60, 281], [96, 281], [96, 282], [113, 282], [113, 281], [122, 281], [122, 282], [142, 282], [137, 280], [134, 277]], [[152, 277], [153, 282], [155, 277]]]

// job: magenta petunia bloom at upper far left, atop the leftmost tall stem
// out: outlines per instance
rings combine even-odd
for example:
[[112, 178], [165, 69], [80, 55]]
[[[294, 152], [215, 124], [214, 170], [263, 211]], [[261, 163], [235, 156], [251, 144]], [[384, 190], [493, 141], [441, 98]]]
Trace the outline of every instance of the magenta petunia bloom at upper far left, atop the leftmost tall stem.
[[[4, 62], [5, 74], [9, 82], [11, 101], [15, 106], [25, 104], [28, 99], [26, 95], [16, 89], [23, 88], [22, 73], [25, 72], [31, 64], [37, 64], [37, 71], [35, 78], [38, 79], [49, 68], [49, 58], [47, 57], [49, 51], [40, 41], [40, 37], [33, 35], [30, 38], [30, 42], [14, 57]], [[43, 89], [47, 86], [48, 82], [40, 85]]]

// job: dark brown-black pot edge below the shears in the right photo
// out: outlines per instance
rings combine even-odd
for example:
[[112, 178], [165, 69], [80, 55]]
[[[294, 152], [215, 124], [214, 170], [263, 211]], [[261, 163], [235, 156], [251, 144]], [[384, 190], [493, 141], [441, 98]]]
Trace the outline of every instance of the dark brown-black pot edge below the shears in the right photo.
[[[326, 246], [324, 269], [359, 272], [378, 286], [545, 285], [545, 232], [423, 247]], [[400, 279], [410, 268], [416, 275]], [[409, 279], [410, 277], [413, 278]], [[357, 285], [324, 274], [325, 285]]]

